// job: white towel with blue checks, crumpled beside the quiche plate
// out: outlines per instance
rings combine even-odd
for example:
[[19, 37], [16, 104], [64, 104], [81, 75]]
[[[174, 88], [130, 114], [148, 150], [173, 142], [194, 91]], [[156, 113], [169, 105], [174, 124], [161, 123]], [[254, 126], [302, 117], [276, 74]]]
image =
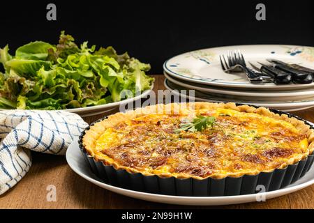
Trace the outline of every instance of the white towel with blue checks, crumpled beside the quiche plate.
[[0, 111], [0, 194], [29, 171], [31, 150], [65, 155], [87, 127], [80, 116], [60, 111]]

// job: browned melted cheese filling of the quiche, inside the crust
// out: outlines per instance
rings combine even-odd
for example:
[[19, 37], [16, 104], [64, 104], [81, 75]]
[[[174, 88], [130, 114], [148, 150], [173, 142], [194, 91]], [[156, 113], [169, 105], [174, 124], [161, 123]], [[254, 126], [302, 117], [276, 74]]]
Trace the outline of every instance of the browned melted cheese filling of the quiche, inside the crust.
[[[96, 141], [96, 153], [122, 167], [150, 174], [213, 174], [270, 171], [308, 149], [306, 135], [291, 123], [232, 109], [198, 110], [215, 116], [203, 132], [175, 133], [185, 115], [149, 114], [114, 128]], [[192, 118], [193, 119], [193, 118]]]

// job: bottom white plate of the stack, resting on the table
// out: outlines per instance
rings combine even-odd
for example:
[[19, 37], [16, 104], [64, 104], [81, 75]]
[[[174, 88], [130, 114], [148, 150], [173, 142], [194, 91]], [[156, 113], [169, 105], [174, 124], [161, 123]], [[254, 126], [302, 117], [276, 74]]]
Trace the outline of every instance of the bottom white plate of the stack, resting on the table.
[[[164, 82], [165, 88], [172, 91], [173, 95], [177, 95], [179, 97], [187, 98], [188, 96], [180, 91], [173, 90], [181, 90], [180, 86], [169, 82], [169, 80], [165, 79]], [[283, 112], [294, 112], [299, 110], [308, 109], [314, 107], [314, 99], [312, 100], [304, 100], [304, 101], [291, 101], [291, 102], [264, 102], [262, 100], [248, 101], [248, 100], [235, 100], [232, 98], [219, 98], [216, 96], [207, 95], [201, 93], [199, 91], [195, 91], [195, 101], [203, 101], [203, 102], [238, 102], [249, 105], [256, 105], [262, 107], [269, 107], [271, 109], [280, 109]]]

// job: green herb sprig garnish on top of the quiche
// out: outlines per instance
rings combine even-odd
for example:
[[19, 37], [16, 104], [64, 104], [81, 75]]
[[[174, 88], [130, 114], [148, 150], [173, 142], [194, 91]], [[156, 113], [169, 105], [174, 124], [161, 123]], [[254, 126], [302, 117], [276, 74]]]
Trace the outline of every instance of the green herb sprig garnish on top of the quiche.
[[190, 123], [181, 123], [180, 128], [175, 130], [176, 133], [181, 131], [202, 132], [207, 128], [213, 128], [216, 118], [214, 116], [196, 116]]

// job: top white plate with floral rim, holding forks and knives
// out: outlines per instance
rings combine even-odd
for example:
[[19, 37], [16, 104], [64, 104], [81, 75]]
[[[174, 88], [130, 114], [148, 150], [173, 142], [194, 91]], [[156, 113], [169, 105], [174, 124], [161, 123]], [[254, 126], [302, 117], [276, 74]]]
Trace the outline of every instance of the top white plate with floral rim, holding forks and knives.
[[256, 63], [265, 59], [279, 59], [287, 63], [299, 63], [314, 68], [314, 47], [295, 45], [238, 45], [200, 49], [174, 56], [165, 61], [163, 69], [171, 76], [188, 82], [211, 86], [284, 91], [313, 87], [311, 84], [251, 84], [244, 73], [227, 74], [220, 66], [219, 55], [239, 49], [246, 61]]

